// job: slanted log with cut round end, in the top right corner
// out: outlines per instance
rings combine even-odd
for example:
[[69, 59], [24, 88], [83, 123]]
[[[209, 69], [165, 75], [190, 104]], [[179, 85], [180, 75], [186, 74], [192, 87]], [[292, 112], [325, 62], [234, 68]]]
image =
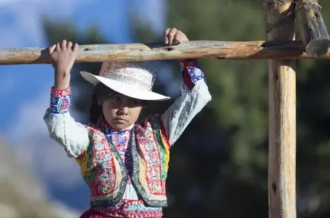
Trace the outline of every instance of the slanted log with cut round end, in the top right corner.
[[306, 53], [311, 57], [327, 54], [330, 38], [317, 0], [298, 0], [295, 10]]

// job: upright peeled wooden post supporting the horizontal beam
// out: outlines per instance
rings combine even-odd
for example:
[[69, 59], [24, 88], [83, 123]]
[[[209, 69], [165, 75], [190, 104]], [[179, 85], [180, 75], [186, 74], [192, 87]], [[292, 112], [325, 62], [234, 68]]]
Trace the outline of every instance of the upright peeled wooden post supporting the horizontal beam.
[[[268, 0], [268, 23], [294, 13], [292, 0]], [[268, 41], [294, 40], [294, 16], [268, 33]], [[296, 73], [294, 59], [268, 61], [270, 218], [296, 218]]]

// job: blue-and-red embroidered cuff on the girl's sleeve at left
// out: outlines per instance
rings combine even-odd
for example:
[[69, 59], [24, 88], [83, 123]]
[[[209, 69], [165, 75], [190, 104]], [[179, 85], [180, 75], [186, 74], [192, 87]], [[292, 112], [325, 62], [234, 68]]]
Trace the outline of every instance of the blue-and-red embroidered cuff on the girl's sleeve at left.
[[59, 114], [69, 112], [71, 106], [71, 88], [50, 91], [50, 109], [52, 113]]

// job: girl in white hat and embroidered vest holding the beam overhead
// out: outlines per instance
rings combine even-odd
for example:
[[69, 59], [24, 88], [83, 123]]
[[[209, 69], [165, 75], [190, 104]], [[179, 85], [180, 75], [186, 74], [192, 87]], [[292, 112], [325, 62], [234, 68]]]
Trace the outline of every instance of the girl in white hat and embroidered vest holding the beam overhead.
[[[188, 41], [178, 29], [164, 43]], [[62, 41], [49, 49], [55, 68], [50, 108], [44, 120], [50, 138], [76, 159], [90, 189], [90, 208], [81, 217], [162, 217], [166, 207], [169, 150], [193, 117], [211, 100], [201, 66], [181, 62], [181, 95], [163, 115], [139, 115], [148, 101], [170, 99], [152, 92], [155, 69], [145, 62], [105, 62], [99, 75], [81, 72], [94, 84], [88, 125], [71, 117], [70, 71], [78, 45]]]

